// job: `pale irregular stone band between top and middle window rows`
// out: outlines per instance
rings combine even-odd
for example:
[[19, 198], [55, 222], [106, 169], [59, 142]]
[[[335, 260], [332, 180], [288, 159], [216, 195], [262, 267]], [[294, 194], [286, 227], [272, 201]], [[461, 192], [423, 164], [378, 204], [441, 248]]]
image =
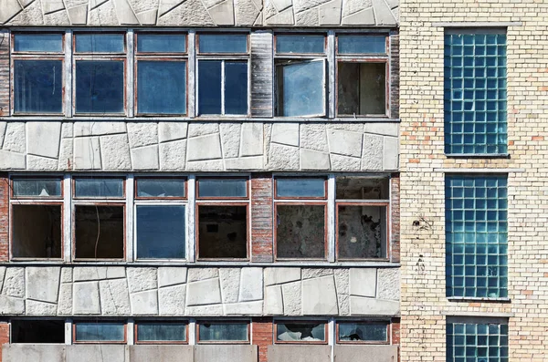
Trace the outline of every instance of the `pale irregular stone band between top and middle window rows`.
[[0, 121], [0, 169], [396, 171], [398, 124]]

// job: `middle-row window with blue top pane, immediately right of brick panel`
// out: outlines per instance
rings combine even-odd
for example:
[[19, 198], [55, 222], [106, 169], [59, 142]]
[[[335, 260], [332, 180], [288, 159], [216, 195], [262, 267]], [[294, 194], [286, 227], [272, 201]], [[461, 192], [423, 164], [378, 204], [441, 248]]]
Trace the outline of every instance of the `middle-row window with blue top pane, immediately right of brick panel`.
[[275, 182], [276, 257], [325, 259], [326, 180], [279, 177]]

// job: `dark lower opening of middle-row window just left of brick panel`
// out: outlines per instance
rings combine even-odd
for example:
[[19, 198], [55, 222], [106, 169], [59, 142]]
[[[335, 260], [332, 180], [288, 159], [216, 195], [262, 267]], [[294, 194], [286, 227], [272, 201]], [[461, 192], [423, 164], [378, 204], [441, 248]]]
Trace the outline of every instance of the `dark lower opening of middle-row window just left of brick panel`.
[[200, 258], [248, 257], [248, 206], [198, 206], [198, 254]]

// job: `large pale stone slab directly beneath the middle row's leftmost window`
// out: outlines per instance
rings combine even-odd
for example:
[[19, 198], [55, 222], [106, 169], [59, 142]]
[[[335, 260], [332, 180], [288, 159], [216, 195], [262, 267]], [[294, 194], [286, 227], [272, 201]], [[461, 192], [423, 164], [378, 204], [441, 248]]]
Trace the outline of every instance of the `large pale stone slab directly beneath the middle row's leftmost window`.
[[60, 267], [27, 267], [26, 298], [57, 303], [60, 274]]

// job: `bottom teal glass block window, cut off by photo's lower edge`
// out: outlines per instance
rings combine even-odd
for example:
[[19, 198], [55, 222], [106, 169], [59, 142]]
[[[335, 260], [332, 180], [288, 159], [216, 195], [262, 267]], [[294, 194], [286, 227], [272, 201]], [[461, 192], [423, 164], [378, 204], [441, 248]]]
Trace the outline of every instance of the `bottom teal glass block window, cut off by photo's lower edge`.
[[508, 325], [448, 323], [448, 362], [508, 362]]

